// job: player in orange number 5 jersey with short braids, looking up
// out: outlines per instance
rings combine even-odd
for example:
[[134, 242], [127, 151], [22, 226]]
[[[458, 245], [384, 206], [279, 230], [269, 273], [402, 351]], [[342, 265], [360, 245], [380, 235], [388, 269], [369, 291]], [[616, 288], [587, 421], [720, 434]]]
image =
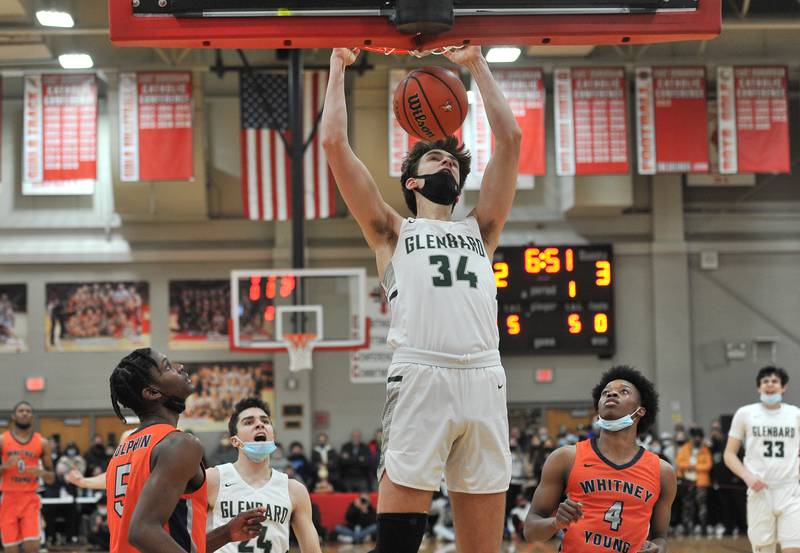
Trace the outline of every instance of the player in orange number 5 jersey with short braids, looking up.
[[106, 471], [111, 553], [202, 553], [256, 537], [263, 509], [206, 536], [203, 448], [175, 425], [194, 385], [183, 365], [150, 348], [125, 356], [111, 373], [111, 403], [141, 424], [117, 446]]

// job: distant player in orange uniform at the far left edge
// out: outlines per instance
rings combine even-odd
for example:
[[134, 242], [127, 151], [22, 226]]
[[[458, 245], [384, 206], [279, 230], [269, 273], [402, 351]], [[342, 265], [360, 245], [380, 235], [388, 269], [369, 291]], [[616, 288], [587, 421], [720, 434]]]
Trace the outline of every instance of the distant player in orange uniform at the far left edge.
[[0, 435], [0, 533], [6, 553], [39, 551], [42, 534], [42, 500], [36, 489], [39, 478], [55, 481], [50, 445], [31, 429], [33, 407], [27, 401], [14, 406], [11, 430]]

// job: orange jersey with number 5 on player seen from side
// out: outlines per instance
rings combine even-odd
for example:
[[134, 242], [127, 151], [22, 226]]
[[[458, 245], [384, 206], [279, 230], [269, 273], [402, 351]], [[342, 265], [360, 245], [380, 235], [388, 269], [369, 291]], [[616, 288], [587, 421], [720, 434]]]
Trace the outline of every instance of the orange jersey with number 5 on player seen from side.
[[[120, 443], [106, 471], [108, 527], [111, 531], [111, 553], [137, 553], [128, 543], [136, 502], [150, 476], [150, 455], [153, 448], [172, 432], [180, 432], [169, 424], [154, 424], [131, 434]], [[207, 483], [195, 492], [181, 496], [164, 529], [189, 553], [206, 550]]]

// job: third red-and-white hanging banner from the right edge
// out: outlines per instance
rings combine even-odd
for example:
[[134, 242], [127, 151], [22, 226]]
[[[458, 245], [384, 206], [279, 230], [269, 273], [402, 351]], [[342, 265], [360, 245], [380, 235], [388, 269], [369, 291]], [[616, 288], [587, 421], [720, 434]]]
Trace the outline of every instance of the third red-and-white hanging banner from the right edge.
[[628, 173], [625, 70], [555, 70], [556, 174]]

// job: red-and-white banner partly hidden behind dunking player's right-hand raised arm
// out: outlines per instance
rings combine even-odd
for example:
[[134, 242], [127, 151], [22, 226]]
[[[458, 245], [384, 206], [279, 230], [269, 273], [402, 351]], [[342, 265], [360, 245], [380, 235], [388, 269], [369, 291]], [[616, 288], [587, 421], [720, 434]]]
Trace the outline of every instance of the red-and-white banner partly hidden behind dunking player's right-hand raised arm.
[[[546, 172], [547, 157], [544, 131], [545, 88], [542, 71], [509, 69], [497, 71], [494, 75], [522, 130], [520, 177], [542, 176]], [[475, 100], [470, 107], [470, 116], [465, 126], [469, 130], [468, 144], [472, 153], [473, 171], [482, 175], [494, 150], [494, 137], [486, 117], [483, 98], [474, 80], [471, 89]], [[517, 188], [533, 188], [533, 180], [520, 179]]]

